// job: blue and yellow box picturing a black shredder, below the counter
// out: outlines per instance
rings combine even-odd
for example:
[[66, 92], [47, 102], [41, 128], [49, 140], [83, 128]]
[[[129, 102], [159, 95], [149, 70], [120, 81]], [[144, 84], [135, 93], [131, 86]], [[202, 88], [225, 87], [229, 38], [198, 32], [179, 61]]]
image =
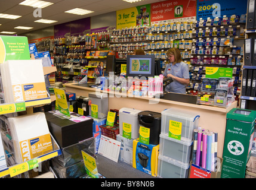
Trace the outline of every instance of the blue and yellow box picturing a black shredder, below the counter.
[[132, 167], [152, 176], [157, 176], [159, 144], [143, 144], [133, 140]]

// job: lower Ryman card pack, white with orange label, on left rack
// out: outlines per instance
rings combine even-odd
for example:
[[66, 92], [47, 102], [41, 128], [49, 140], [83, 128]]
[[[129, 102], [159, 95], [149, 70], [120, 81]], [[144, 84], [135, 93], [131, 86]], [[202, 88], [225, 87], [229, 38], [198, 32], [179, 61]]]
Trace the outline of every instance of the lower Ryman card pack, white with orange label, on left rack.
[[17, 163], [53, 151], [51, 135], [42, 112], [8, 118]]

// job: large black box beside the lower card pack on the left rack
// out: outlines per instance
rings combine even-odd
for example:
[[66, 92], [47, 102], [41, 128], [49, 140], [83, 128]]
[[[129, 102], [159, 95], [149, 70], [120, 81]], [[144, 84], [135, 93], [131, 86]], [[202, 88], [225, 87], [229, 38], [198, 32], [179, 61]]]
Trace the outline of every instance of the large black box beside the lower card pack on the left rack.
[[74, 122], [70, 119], [61, 119], [53, 113], [45, 114], [48, 128], [61, 148], [79, 143], [92, 137], [93, 119]]

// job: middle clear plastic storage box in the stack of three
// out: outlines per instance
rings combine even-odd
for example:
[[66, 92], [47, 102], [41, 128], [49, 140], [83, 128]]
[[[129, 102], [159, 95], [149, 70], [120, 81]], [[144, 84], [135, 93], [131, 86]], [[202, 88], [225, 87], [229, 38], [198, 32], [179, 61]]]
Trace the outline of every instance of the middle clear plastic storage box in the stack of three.
[[159, 155], [167, 156], [177, 161], [189, 164], [193, 141], [175, 140], [160, 134]]

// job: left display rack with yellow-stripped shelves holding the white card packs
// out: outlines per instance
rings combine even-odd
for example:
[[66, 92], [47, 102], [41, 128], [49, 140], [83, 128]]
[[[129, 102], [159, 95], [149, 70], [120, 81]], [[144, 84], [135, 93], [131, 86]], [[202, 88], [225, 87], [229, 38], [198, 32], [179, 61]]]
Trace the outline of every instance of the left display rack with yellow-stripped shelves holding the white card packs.
[[[55, 72], [56, 68], [52, 67], [44, 67], [44, 75], [50, 74], [51, 72]], [[33, 101], [21, 101], [21, 102], [11, 102], [5, 103], [4, 91], [2, 87], [2, 80], [0, 77], [0, 132], [1, 132], [1, 164], [5, 162], [4, 165], [0, 166], [0, 178], [5, 178], [10, 175], [11, 178], [20, 175], [21, 173], [27, 172], [39, 166], [40, 163], [45, 160], [51, 159], [55, 156], [59, 156], [61, 154], [60, 147], [57, 142], [54, 140], [53, 136], [51, 136], [51, 143], [53, 145], [53, 150], [47, 154], [38, 156], [34, 159], [27, 160], [23, 163], [17, 163], [14, 157], [14, 148], [13, 148], [13, 140], [11, 137], [10, 128], [8, 127], [7, 117], [16, 117], [18, 116], [18, 112], [22, 112], [21, 114], [29, 114], [33, 113], [33, 107], [47, 105], [51, 103], [54, 98], [48, 94], [46, 99], [36, 99]], [[55, 95], [54, 95], [55, 97]]]

